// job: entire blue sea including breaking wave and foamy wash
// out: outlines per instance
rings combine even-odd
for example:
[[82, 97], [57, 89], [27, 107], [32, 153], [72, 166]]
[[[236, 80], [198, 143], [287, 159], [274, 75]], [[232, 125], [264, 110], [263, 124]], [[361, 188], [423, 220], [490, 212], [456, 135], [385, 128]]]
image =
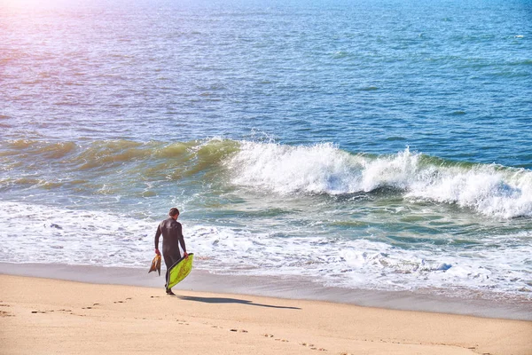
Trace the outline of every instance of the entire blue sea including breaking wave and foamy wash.
[[532, 3], [0, 4], [0, 262], [532, 301]]

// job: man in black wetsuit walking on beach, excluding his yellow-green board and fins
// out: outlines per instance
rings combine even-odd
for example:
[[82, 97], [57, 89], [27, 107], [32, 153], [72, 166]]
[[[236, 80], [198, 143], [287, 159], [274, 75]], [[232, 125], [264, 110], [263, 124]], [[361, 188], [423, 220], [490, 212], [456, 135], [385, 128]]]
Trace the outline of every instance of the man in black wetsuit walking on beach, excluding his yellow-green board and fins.
[[[184, 257], [188, 256], [186, 247], [184, 246], [183, 227], [177, 222], [179, 217], [179, 209], [175, 207], [171, 208], [168, 212], [169, 218], [160, 222], [157, 227], [157, 233], [155, 233], [155, 254], [160, 256], [159, 251], [159, 237], [162, 234], [162, 257], [164, 258], [164, 264], [167, 266], [166, 281], [168, 284], [168, 270], [181, 258], [181, 252], [179, 251], [179, 244], [183, 248]], [[166, 285], [165, 285], [166, 288]], [[171, 288], [167, 289], [168, 295], [175, 295]]]

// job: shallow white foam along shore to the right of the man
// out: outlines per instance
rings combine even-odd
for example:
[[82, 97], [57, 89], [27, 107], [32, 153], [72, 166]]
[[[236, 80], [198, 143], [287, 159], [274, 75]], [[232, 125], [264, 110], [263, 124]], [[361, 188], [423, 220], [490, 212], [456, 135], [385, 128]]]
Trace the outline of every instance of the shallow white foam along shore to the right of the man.
[[[215, 272], [308, 276], [331, 286], [371, 289], [465, 288], [519, 293], [532, 281], [529, 233], [522, 243], [487, 238], [476, 248], [403, 249], [381, 241], [279, 238], [214, 227], [192, 228], [191, 242]], [[501, 239], [508, 240], [508, 236]], [[485, 248], [498, 243], [499, 248]], [[231, 264], [228, 258], [231, 256]], [[521, 296], [522, 296], [521, 295]]]

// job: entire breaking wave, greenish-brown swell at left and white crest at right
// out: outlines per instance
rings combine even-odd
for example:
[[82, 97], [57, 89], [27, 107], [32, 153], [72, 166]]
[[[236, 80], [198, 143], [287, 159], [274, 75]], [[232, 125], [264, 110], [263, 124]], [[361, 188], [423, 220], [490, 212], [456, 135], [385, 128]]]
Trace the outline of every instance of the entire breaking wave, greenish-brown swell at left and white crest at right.
[[127, 194], [139, 182], [157, 186], [183, 179], [216, 180], [231, 188], [279, 195], [385, 191], [411, 201], [456, 204], [491, 217], [532, 217], [531, 170], [452, 162], [408, 148], [374, 155], [352, 154], [330, 143], [288, 146], [222, 138], [85, 144], [17, 140], [0, 143], [0, 162], [4, 191], [75, 188]]

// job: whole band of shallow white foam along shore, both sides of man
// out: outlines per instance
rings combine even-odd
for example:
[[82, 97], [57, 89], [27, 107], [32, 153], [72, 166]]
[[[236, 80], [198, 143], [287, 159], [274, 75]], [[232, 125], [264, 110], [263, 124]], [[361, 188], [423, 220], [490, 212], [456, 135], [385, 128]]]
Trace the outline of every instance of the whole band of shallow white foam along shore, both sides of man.
[[[158, 221], [0, 201], [0, 261], [147, 268]], [[348, 288], [465, 288], [532, 296], [529, 232], [473, 248], [397, 248], [377, 238], [279, 237], [213, 225], [184, 231], [196, 267], [218, 273], [309, 276]], [[494, 248], [493, 246], [497, 246]], [[227, 257], [231, 256], [231, 257]]]

